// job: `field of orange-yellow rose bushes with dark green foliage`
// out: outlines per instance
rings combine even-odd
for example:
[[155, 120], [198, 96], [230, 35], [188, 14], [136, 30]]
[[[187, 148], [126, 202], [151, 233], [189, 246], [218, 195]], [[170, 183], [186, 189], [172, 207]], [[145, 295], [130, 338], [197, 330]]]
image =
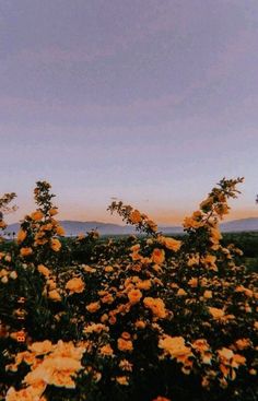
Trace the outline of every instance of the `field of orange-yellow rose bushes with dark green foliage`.
[[113, 202], [142, 234], [116, 238], [66, 238], [38, 181], [0, 244], [0, 400], [257, 400], [258, 233], [218, 226], [241, 181], [222, 179], [177, 237]]

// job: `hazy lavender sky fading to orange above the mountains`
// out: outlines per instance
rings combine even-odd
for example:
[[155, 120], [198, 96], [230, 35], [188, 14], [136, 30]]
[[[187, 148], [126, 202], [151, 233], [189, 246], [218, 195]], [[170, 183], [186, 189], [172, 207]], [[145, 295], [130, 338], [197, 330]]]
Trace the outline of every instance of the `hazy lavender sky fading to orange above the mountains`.
[[223, 177], [258, 216], [257, 0], [0, 2], [0, 193], [47, 180], [60, 219], [112, 198], [180, 224]]

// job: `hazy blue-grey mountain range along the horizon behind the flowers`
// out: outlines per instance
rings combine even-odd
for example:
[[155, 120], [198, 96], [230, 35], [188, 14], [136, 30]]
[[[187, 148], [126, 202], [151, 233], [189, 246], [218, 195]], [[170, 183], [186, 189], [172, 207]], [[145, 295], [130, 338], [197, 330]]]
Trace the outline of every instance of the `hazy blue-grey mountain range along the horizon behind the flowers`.
[[[136, 234], [133, 226], [130, 225], [119, 225], [110, 223], [101, 222], [78, 222], [63, 220], [59, 222], [61, 226], [66, 229], [67, 236], [77, 236], [80, 233], [86, 233], [91, 229], [97, 229], [101, 235], [127, 235]], [[5, 234], [17, 233], [20, 228], [19, 223], [10, 224], [4, 231]], [[181, 226], [160, 226], [159, 231], [164, 234], [183, 234]], [[224, 233], [232, 232], [254, 232], [258, 231], [258, 217], [241, 219], [234, 220], [221, 224], [221, 231]]]

